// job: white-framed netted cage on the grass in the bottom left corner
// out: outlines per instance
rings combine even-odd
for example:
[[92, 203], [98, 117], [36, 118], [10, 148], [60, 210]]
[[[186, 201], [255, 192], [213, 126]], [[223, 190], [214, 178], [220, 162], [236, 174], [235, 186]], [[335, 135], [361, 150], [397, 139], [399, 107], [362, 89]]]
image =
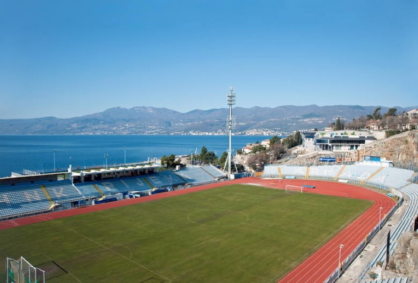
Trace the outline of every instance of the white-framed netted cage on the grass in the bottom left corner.
[[33, 266], [23, 257], [6, 259], [6, 283], [45, 283], [45, 271]]

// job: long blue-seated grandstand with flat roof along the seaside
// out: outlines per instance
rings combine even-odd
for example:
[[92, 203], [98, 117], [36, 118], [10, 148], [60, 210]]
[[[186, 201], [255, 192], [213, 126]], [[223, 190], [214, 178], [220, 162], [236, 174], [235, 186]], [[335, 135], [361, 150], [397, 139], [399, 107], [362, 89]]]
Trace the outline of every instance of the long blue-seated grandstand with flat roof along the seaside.
[[[106, 197], [146, 196], [217, 182], [225, 174], [216, 167], [193, 166], [179, 171], [157, 171], [159, 166], [135, 166], [76, 172], [73, 180], [37, 175], [29, 181], [9, 179], [0, 185], [0, 220], [90, 205]], [[72, 182], [73, 181], [73, 182]]]

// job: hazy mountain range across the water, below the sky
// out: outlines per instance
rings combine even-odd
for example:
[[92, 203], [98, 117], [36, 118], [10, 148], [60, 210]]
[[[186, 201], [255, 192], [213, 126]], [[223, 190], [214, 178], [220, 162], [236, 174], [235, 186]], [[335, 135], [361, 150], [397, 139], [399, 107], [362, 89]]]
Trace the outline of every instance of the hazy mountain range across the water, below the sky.
[[[348, 122], [372, 114], [378, 106], [334, 105], [235, 107], [238, 134], [287, 133], [294, 130], [322, 129], [337, 117]], [[388, 111], [383, 107], [381, 114]], [[396, 107], [398, 113], [418, 108]], [[1, 135], [133, 135], [225, 133], [227, 108], [180, 113], [167, 108], [114, 107], [101, 113], [74, 118], [0, 119]]]

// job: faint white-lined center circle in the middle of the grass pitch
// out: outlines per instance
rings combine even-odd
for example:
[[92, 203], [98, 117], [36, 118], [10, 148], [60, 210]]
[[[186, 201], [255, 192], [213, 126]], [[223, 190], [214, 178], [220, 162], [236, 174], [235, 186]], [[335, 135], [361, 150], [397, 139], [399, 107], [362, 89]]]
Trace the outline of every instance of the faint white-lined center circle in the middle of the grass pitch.
[[188, 216], [190, 222], [210, 227], [228, 227], [243, 224], [248, 221], [248, 215], [231, 210], [210, 212], [193, 212]]

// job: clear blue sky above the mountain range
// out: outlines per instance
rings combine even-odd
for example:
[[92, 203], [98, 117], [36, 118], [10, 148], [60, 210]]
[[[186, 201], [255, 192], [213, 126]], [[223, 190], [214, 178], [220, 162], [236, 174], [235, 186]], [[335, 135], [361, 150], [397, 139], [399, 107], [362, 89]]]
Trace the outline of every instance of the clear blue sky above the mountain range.
[[416, 0], [0, 0], [0, 118], [418, 104]]

